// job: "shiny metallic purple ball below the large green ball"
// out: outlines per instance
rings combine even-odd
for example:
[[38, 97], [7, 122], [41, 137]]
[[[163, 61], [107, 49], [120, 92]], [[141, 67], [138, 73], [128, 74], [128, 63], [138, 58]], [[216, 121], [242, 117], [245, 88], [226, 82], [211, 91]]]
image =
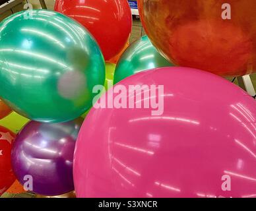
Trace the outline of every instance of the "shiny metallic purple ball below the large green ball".
[[13, 144], [12, 165], [18, 181], [40, 195], [73, 191], [73, 154], [81, 125], [82, 118], [66, 123], [30, 121]]

